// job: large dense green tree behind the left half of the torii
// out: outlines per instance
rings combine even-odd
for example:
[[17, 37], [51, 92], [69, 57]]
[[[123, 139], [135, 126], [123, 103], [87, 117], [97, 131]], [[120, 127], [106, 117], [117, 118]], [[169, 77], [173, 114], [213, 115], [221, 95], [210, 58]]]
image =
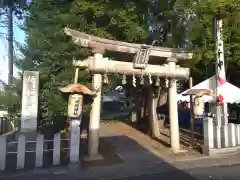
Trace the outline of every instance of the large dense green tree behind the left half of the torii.
[[[63, 28], [145, 43], [148, 20], [144, 14], [148, 14], [148, 7], [151, 1], [146, 0], [35, 0], [31, 3], [25, 26], [27, 47], [23, 50], [23, 69], [40, 71], [43, 119], [66, 113], [66, 100], [58, 88], [73, 82], [73, 57], [83, 59], [91, 54], [88, 49], [75, 46]], [[81, 71], [79, 82], [89, 85], [91, 76]]]

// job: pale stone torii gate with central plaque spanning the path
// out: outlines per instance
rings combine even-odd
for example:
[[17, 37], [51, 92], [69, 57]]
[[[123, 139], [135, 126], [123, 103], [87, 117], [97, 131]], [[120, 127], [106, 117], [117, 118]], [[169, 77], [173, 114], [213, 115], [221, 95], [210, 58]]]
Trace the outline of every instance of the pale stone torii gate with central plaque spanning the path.
[[[188, 68], [176, 65], [178, 60], [191, 59], [193, 53], [172, 48], [154, 47], [145, 44], [133, 44], [121, 41], [114, 41], [88, 35], [73, 29], [65, 28], [65, 33], [72, 37], [76, 45], [88, 47], [92, 49], [93, 56], [88, 59], [75, 62], [75, 66], [86, 67], [93, 72], [92, 89], [97, 91], [96, 97], [92, 103], [90, 112], [90, 125], [88, 136], [88, 155], [90, 160], [99, 159], [99, 125], [100, 125], [100, 109], [101, 109], [101, 87], [102, 73], [121, 73], [125, 75], [136, 76], [157, 76], [170, 77], [171, 85], [169, 87], [169, 117], [171, 132], [171, 148], [173, 152], [179, 152], [179, 125], [178, 125], [178, 109], [177, 109], [177, 79], [188, 79], [190, 72]], [[114, 51], [121, 53], [136, 54], [134, 62], [112, 61], [103, 58], [106, 51]], [[164, 65], [148, 64], [150, 56], [166, 58]], [[151, 97], [153, 98], [153, 97]], [[151, 107], [153, 114], [153, 108]], [[153, 117], [153, 115], [150, 115]], [[154, 123], [153, 123], [154, 124]], [[156, 125], [156, 123], [155, 123]]]

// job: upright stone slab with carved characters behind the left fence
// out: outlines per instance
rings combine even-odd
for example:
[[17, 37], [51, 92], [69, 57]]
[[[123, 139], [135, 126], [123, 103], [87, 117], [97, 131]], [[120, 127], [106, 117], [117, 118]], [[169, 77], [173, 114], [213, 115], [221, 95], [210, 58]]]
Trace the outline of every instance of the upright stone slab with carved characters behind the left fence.
[[38, 116], [39, 72], [24, 71], [21, 132], [36, 132]]

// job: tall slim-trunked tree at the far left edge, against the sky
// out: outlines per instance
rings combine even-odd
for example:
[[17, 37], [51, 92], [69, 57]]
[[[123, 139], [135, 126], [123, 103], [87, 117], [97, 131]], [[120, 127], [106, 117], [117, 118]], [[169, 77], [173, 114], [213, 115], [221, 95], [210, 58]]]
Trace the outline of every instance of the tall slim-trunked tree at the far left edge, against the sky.
[[[0, 27], [8, 29], [8, 61], [9, 77], [8, 84], [2, 83], [4, 87], [0, 93], [0, 105], [8, 110], [11, 115], [16, 115], [20, 110], [21, 80], [13, 77], [14, 50], [13, 50], [13, 16], [22, 20], [22, 13], [26, 5], [26, 0], [0, 0]], [[0, 32], [0, 38], [6, 35]]]

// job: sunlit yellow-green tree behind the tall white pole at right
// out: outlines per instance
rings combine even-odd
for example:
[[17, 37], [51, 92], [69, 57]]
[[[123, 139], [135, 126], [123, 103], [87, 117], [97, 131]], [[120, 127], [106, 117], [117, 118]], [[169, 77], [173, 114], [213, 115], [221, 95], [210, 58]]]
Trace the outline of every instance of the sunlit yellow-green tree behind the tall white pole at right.
[[[239, 67], [240, 1], [183, 0], [176, 1], [174, 11], [184, 19], [187, 46], [196, 51], [189, 62], [195, 75], [204, 75], [204, 66], [216, 61], [213, 18], [223, 20], [224, 51], [227, 72]], [[180, 19], [180, 18], [179, 18]], [[202, 76], [204, 77], [204, 76]]]

